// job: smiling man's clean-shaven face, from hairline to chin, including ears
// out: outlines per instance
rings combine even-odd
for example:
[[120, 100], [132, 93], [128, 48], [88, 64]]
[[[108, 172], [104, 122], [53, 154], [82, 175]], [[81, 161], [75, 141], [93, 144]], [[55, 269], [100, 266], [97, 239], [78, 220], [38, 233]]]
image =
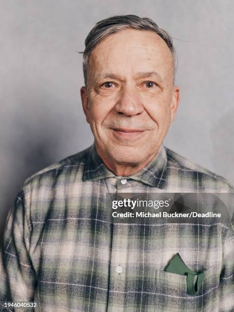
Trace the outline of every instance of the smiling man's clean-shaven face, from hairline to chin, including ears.
[[139, 165], [158, 152], [179, 100], [172, 64], [150, 31], [122, 30], [94, 48], [81, 96], [102, 159]]

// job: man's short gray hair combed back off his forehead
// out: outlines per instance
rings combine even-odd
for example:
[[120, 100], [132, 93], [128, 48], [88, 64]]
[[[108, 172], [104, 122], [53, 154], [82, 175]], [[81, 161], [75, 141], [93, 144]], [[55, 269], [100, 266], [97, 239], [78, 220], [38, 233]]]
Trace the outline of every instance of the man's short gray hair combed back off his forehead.
[[83, 72], [85, 85], [87, 85], [87, 69], [93, 49], [98, 45], [98, 43], [100, 43], [101, 40], [123, 29], [153, 31], [166, 42], [173, 57], [174, 83], [176, 71], [176, 55], [171, 36], [165, 30], [159, 28], [158, 25], [154, 23], [154, 21], [152, 21], [150, 18], [139, 17], [137, 15], [116, 15], [106, 19], [102, 19], [97, 22], [85, 39], [84, 52], [79, 52], [83, 54]]

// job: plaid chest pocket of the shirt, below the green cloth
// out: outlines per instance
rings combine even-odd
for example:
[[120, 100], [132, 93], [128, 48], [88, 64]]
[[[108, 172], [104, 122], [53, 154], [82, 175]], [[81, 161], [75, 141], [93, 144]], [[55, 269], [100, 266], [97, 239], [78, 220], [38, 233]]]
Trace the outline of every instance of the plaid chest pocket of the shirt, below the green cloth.
[[157, 270], [155, 273], [156, 311], [218, 311], [219, 274], [217, 269], [204, 271], [202, 285], [195, 295], [189, 295], [187, 276]]

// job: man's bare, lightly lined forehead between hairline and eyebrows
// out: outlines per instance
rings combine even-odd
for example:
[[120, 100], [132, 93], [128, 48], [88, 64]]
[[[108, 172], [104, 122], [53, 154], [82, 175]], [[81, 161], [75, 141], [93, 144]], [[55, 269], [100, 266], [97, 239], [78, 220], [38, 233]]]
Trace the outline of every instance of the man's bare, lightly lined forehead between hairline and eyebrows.
[[89, 71], [101, 75], [157, 71], [172, 74], [173, 57], [166, 42], [152, 31], [121, 30], [103, 39], [92, 51]]

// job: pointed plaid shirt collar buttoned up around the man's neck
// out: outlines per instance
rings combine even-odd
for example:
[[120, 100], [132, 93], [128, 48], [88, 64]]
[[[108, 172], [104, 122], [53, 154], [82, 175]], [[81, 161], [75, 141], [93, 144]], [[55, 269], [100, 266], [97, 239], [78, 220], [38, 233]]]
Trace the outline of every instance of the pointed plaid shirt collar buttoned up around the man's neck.
[[[162, 189], [166, 183], [166, 167], [167, 153], [162, 144], [155, 157], [141, 171], [125, 178], [141, 181], [151, 187]], [[116, 175], [102, 162], [93, 144], [88, 153], [82, 180], [99, 180], [107, 177], [116, 177]]]

